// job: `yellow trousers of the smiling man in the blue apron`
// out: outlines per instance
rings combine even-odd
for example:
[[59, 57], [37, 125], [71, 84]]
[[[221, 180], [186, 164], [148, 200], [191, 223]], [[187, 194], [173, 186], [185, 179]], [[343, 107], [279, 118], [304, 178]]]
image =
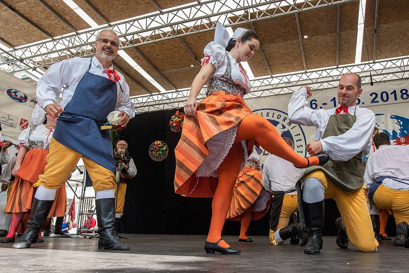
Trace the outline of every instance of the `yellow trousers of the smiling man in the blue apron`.
[[79, 152], [65, 147], [54, 138], [50, 141], [50, 153], [46, 157], [46, 169], [44, 169], [44, 174], [39, 176], [39, 181], [47, 189], [58, 189], [69, 177], [75, 166], [77, 166], [81, 157], [86, 171], [93, 181], [94, 190], [113, 189], [115, 175], [110, 170], [100, 166]]

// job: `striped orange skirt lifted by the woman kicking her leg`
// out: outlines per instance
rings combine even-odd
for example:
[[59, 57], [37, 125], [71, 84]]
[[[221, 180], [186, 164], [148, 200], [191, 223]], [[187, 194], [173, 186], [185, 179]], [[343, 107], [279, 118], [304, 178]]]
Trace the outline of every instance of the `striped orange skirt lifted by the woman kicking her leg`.
[[[196, 176], [197, 169], [209, 155], [206, 142], [237, 126], [250, 113], [252, 110], [241, 96], [217, 91], [198, 103], [196, 117], [185, 116], [182, 134], [175, 148], [175, 193], [191, 197], [213, 197], [217, 177]], [[225, 141], [233, 144], [236, 131]], [[254, 139], [247, 140], [247, 147], [253, 149], [253, 145]], [[222, 158], [218, 160], [222, 161], [225, 155], [221, 155]]]

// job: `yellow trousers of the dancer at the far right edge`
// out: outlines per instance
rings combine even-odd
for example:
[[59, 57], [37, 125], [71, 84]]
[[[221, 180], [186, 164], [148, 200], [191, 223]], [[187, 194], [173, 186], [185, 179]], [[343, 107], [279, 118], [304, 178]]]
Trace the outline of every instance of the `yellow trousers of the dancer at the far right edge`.
[[392, 210], [396, 224], [409, 223], [409, 191], [398, 191], [380, 185], [374, 194], [374, 204], [379, 209]]

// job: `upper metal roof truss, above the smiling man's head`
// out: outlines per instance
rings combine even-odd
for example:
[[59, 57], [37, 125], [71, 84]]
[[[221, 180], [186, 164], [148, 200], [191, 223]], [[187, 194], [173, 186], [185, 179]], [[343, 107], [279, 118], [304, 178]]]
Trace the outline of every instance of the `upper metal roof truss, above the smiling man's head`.
[[[96, 34], [107, 26], [119, 33], [120, 38], [124, 37], [121, 39], [123, 40], [121, 49], [127, 49], [142, 44], [210, 31], [216, 27], [217, 21], [222, 22], [226, 27], [232, 27], [355, 1], [357, 0], [197, 1], [182, 7], [159, 10], [115, 24], [107, 23], [97, 29], [79, 31], [16, 47], [8, 53], [35, 68], [46, 67], [66, 58], [91, 56]], [[0, 56], [7, 57], [4, 53], [0, 53]], [[3, 64], [8, 64], [8, 62]]]

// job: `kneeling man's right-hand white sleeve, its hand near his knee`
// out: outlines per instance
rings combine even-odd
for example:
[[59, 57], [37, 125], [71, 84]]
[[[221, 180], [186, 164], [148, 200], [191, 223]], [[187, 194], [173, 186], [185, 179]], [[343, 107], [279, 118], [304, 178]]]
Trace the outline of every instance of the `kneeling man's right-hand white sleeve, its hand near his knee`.
[[362, 113], [357, 115], [351, 129], [336, 137], [321, 140], [324, 152], [332, 160], [348, 161], [368, 146], [375, 126], [375, 115], [369, 109], [359, 108], [359, 111]]

